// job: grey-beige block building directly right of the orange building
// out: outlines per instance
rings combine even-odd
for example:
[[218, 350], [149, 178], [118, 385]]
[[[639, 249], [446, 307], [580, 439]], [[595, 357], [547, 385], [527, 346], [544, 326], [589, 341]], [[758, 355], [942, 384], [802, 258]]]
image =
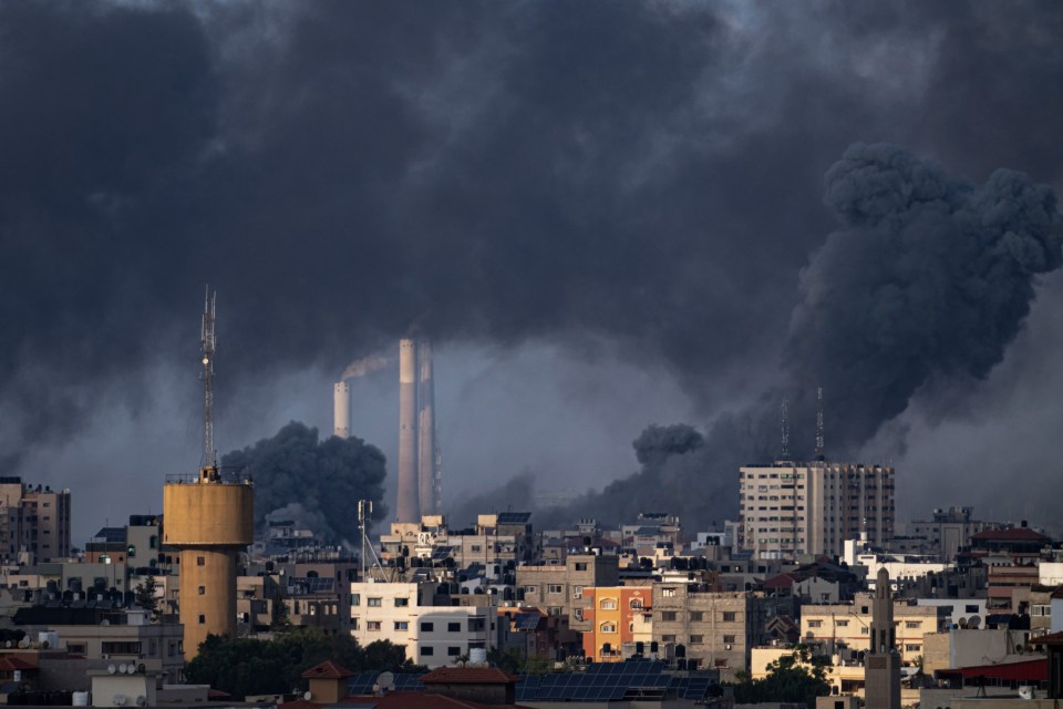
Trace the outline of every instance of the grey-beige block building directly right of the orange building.
[[688, 583], [653, 584], [653, 640], [683, 646], [687, 660], [733, 680], [749, 671], [751, 649], [770, 641], [768, 620], [793, 610], [793, 598], [713, 592]]

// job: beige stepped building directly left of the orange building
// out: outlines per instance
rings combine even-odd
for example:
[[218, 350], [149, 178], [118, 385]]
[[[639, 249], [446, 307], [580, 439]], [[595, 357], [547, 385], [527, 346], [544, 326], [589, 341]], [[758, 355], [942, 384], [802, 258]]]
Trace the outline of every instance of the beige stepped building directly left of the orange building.
[[518, 566], [517, 597], [525, 605], [543, 608], [549, 615], [569, 617], [569, 627], [590, 630], [585, 614], [590, 600], [584, 590], [620, 585], [620, 559], [615, 554], [568, 554], [560, 566]]

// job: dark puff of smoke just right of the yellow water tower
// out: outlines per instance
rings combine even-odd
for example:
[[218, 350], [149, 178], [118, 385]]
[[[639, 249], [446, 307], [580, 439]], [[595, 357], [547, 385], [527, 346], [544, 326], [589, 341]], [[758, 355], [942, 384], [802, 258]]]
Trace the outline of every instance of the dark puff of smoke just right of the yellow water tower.
[[329, 436], [289, 423], [277, 435], [221, 458], [255, 480], [255, 524], [293, 520], [327, 544], [359, 538], [358, 501], [373, 503], [373, 521], [388, 516], [383, 503], [384, 455], [361, 439]]

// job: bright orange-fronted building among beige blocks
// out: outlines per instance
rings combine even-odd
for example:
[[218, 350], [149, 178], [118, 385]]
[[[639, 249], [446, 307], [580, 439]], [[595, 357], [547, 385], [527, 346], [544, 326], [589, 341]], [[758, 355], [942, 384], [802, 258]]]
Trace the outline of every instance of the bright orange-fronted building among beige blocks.
[[594, 662], [619, 662], [625, 643], [646, 643], [649, 647], [653, 627], [653, 588], [651, 586], [610, 586], [584, 588], [588, 607], [584, 620], [590, 630], [584, 633], [584, 654]]

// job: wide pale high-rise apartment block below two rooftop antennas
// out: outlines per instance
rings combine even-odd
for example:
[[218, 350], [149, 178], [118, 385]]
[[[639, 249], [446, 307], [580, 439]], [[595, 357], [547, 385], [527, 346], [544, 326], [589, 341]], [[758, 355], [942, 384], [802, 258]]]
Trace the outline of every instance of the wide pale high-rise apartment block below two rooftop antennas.
[[894, 535], [894, 469], [776, 462], [739, 472], [740, 546], [757, 558], [838, 556], [845, 540]]

